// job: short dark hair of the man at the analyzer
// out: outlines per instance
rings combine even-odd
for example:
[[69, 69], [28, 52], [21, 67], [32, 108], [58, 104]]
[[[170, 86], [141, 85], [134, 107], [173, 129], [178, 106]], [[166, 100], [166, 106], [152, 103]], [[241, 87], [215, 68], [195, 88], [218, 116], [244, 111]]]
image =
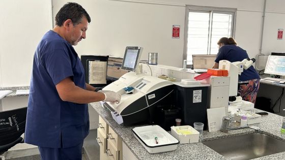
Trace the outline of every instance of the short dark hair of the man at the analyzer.
[[88, 23], [91, 22], [91, 18], [86, 10], [77, 3], [67, 3], [65, 4], [60, 11], [55, 16], [55, 25], [62, 26], [63, 23], [71, 19], [74, 25], [77, 25], [81, 22], [82, 17], [85, 16], [88, 20]]

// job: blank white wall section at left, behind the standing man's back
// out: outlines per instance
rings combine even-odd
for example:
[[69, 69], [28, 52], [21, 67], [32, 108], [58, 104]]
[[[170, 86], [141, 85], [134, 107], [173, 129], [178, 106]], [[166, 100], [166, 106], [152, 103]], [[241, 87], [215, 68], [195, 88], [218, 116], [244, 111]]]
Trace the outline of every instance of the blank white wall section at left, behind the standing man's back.
[[0, 19], [0, 87], [30, 85], [35, 49], [52, 28], [51, 1], [0, 1]]

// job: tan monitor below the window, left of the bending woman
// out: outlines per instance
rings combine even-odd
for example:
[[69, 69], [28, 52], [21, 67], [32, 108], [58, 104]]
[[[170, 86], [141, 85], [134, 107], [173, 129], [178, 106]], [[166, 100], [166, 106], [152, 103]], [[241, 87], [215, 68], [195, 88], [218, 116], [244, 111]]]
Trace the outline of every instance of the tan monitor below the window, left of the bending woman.
[[216, 54], [192, 54], [193, 69], [211, 69], [216, 57]]

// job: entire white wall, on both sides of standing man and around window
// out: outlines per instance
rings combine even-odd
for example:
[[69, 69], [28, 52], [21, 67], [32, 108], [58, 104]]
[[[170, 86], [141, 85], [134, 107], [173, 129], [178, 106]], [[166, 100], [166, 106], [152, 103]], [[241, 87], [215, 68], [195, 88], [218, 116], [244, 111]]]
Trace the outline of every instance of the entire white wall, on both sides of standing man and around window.
[[[0, 86], [30, 84], [34, 51], [40, 38], [51, 28], [50, 1], [0, 1], [0, 17], [5, 22], [0, 30], [4, 37], [0, 40]], [[68, 1], [52, 1], [53, 17]], [[235, 38], [238, 45], [247, 50], [250, 57], [260, 53], [263, 0], [74, 2], [82, 5], [92, 19], [87, 39], [75, 46], [79, 55], [122, 57], [125, 46], [140, 45], [144, 47], [141, 59], [148, 59], [149, 52], [158, 52], [161, 65], [182, 67], [185, 5], [237, 8]], [[285, 52], [284, 40], [277, 40], [277, 29], [285, 27], [284, 5], [282, 0], [267, 1], [262, 53]], [[174, 24], [181, 25], [180, 39], [172, 39]]]

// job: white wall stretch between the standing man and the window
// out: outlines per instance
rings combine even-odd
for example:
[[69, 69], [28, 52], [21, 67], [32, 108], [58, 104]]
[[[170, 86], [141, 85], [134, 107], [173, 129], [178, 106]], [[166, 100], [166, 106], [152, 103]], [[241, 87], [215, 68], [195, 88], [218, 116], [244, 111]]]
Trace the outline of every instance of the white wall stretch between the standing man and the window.
[[[67, 1], [53, 1], [53, 15]], [[123, 57], [126, 46], [143, 46], [141, 59], [158, 52], [158, 63], [182, 63], [183, 33], [172, 39], [172, 25], [184, 30], [185, 7], [117, 1], [76, 1], [91, 16], [87, 39], [75, 46], [79, 55], [103, 54]]]

